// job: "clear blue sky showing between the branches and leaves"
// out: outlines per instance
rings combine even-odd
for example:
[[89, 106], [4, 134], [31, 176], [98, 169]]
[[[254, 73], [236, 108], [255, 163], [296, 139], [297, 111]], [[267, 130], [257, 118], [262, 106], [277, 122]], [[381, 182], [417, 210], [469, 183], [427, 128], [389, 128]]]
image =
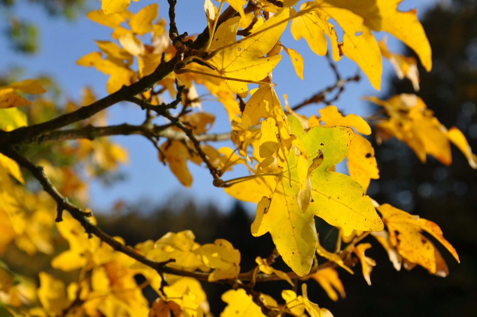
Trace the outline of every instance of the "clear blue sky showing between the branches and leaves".
[[[150, 3], [159, 4], [159, 16], [167, 21], [168, 4], [166, 0], [131, 1], [128, 10], [133, 13]], [[300, 1], [301, 2], [301, 1]], [[89, 1], [89, 9], [97, 10], [101, 7], [100, 1]], [[399, 9], [407, 11], [417, 8], [418, 16], [421, 17], [426, 8], [435, 5], [436, 0], [404, 0]], [[206, 26], [205, 13], [202, 0], [177, 0], [176, 25], [179, 32], [187, 31], [189, 34], [200, 33]], [[24, 0], [16, 2], [13, 12], [21, 19], [29, 20], [39, 25], [40, 51], [34, 56], [25, 56], [9, 49], [4, 36], [0, 36], [0, 73], [5, 72], [11, 66], [20, 66], [25, 69], [24, 78], [31, 78], [39, 74], [48, 74], [56, 79], [66, 95], [78, 99], [80, 90], [85, 85], [93, 87], [98, 97], [104, 97], [106, 93], [107, 76], [96, 71], [94, 68], [86, 68], [75, 64], [75, 61], [86, 53], [97, 51], [94, 40], [110, 40], [112, 29], [97, 24], [87, 19], [84, 14], [76, 21], [65, 21], [62, 18], [49, 17], [42, 7], [28, 3]], [[6, 28], [6, 19], [1, 19], [0, 28]], [[383, 32], [375, 33], [379, 39]], [[404, 44], [388, 36], [388, 46], [392, 51], [403, 51]], [[281, 37], [281, 42], [287, 47], [298, 51], [304, 59], [304, 80], [295, 75], [290, 59], [285, 54], [273, 71], [273, 81], [279, 96], [288, 95], [290, 106], [300, 103], [303, 99], [315, 94], [322, 88], [334, 83], [332, 73], [326, 57], [318, 56], [311, 52], [304, 39], [295, 41], [287, 27]], [[342, 76], [356, 73], [358, 66], [353, 61], [343, 57], [337, 63]], [[363, 73], [361, 73], [363, 75]], [[394, 74], [391, 65], [383, 62], [383, 82], [381, 91], [375, 90], [369, 80], [362, 76], [359, 83], [351, 83], [346, 86], [341, 98], [334, 103], [344, 114], [354, 113], [357, 115], [368, 114], [366, 103], [360, 101], [362, 95], [376, 95], [380, 97], [386, 92], [387, 79]], [[253, 88], [249, 85], [249, 89]], [[199, 95], [205, 90], [197, 87]], [[283, 100], [281, 98], [281, 100]], [[301, 113], [311, 115], [323, 105], [310, 105]], [[205, 101], [202, 103], [204, 111], [216, 114], [216, 122], [211, 132], [227, 132], [230, 130], [227, 114], [218, 102]], [[121, 103], [109, 108], [109, 123], [140, 124], [144, 119], [144, 113], [136, 106]], [[154, 201], [158, 204], [165, 203], [173, 195], [178, 199], [195, 199], [199, 203], [214, 202], [223, 210], [227, 210], [234, 202], [222, 189], [212, 185], [212, 177], [203, 166], [189, 164], [189, 169], [194, 177], [190, 189], [184, 188], [168, 167], [163, 166], [157, 159], [157, 151], [150, 141], [141, 136], [114, 137], [114, 141], [120, 143], [129, 150], [130, 162], [120, 168], [127, 175], [127, 180], [115, 184], [113, 187], [104, 187], [99, 182], [93, 182], [90, 186], [90, 205], [93, 210], [106, 211], [115, 201], [123, 200], [135, 203], [141, 201]], [[230, 142], [214, 143], [214, 146], [230, 146]], [[338, 168], [344, 171], [343, 164]], [[236, 169], [230, 174], [225, 174], [224, 179], [244, 176], [245, 169]], [[254, 212], [255, 205], [246, 205]]]

